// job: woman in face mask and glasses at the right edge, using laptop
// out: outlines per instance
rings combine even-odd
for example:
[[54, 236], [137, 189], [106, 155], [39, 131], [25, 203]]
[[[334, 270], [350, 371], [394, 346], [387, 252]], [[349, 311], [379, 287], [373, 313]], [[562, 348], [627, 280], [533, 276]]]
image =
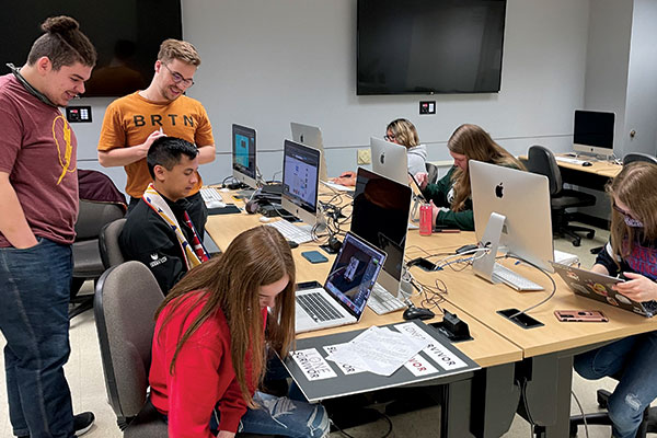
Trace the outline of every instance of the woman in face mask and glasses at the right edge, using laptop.
[[[657, 300], [657, 165], [634, 162], [623, 166], [607, 185], [612, 205], [610, 240], [598, 254], [592, 272], [626, 281], [613, 288], [635, 301]], [[612, 436], [630, 438], [643, 411], [657, 397], [657, 332], [616, 341], [575, 357], [585, 379], [619, 380], [609, 397]]]

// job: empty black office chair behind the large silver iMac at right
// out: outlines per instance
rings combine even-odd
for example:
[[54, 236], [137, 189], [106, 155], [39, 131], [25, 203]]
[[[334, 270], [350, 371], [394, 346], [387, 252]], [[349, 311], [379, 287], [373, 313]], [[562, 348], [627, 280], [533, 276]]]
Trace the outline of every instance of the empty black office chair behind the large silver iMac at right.
[[550, 180], [550, 204], [554, 234], [570, 237], [573, 246], [581, 244], [581, 237], [576, 231], [586, 232], [587, 239], [592, 239], [596, 233], [595, 230], [568, 224], [569, 217], [566, 214], [566, 208], [592, 206], [596, 204], [596, 197], [583, 192], [564, 188], [561, 171], [550, 149], [542, 146], [532, 146], [527, 154], [527, 169], [530, 172], [545, 175]]

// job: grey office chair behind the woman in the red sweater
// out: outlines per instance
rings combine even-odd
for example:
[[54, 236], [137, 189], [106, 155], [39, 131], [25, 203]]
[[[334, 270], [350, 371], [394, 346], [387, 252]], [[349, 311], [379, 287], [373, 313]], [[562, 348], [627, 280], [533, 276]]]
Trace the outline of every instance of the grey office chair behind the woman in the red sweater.
[[[115, 228], [122, 226], [117, 222], [113, 222]], [[105, 389], [124, 438], [168, 436], [166, 423], [147, 397], [153, 316], [162, 300], [155, 277], [141, 262], [113, 266], [96, 284], [93, 311]]]

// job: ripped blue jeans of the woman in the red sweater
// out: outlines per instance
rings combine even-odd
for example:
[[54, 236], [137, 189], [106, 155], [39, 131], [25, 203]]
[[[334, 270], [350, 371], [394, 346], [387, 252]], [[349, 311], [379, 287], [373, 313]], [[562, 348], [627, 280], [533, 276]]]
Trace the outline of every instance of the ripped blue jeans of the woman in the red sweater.
[[[311, 404], [255, 392], [253, 400], [261, 406], [249, 408], [240, 420], [239, 431], [246, 434], [280, 435], [296, 438], [328, 436], [328, 414], [321, 404]], [[219, 411], [215, 410], [210, 429], [217, 430]]]

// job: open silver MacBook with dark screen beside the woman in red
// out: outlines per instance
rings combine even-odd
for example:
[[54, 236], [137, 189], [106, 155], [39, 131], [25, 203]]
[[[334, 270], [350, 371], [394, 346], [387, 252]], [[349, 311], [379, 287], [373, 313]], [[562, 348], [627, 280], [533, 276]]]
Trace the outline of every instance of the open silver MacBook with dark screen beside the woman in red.
[[297, 290], [296, 332], [360, 321], [384, 261], [383, 251], [348, 232], [324, 286]]

